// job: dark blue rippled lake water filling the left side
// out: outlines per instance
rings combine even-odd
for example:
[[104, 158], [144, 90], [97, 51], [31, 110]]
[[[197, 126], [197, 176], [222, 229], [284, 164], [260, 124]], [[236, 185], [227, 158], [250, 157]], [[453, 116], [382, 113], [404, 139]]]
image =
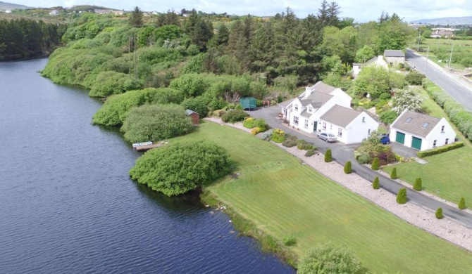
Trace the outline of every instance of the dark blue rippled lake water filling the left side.
[[294, 273], [198, 197], [131, 181], [139, 153], [46, 62], [0, 63], [0, 273]]

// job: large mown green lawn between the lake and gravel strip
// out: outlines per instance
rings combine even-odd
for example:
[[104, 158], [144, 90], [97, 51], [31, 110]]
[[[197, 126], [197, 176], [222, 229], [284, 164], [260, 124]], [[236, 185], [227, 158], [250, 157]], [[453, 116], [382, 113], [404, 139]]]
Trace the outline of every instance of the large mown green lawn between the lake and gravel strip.
[[239, 178], [228, 176], [207, 189], [278, 240], [297, 237], [299, 256], [333, 241], [354, 249], [375, 273], [472, 273], [472, 253], [399, 220], [271, 143], [210, 122], [181, 138], [228, 149]]

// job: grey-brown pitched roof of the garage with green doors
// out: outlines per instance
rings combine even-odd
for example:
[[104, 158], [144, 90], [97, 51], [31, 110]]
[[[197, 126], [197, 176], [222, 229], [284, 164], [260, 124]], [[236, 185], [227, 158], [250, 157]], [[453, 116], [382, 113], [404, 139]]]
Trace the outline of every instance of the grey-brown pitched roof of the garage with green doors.
[[390, 126], [416, 136], [426, 137], [441, 119], [411, 110], [405, 110]]

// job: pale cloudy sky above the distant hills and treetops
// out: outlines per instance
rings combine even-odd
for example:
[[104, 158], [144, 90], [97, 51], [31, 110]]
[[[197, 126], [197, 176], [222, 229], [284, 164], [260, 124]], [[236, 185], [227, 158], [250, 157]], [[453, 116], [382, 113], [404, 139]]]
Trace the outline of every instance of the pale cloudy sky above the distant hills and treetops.
[[[14, 4], [49, 8], [53, 6], [77, 6], [82, 4], [105, 6], [130, 11], [138, 6], [142, 11], [165, 12], [182, 8], [205, 13], [228, 13], [235, 15], [271, 16], [290, 6], [298, 18], [318, 13], [321, 0], [2, 0]], [[328, 2], [333, 0], [328, 0]], [[382, 11], [397, 13], [406, 22], [412, 20], [444, 17], [472, 16], [472, 0], [337, 0], [341, 7], [340, 18], [354, 18], [356, 22], [377, 20]]]

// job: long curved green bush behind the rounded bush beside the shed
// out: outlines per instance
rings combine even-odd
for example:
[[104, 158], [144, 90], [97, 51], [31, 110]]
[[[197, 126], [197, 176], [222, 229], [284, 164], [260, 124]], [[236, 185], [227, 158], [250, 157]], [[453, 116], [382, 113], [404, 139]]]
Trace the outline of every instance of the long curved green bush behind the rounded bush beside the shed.
[[144, 104], [180, 104], [182, 91], [175, 89], [141, 89], [110, 96], [104, 105], [95, 112], [92, 122], [105, 126], [118, 126], [125, 122], [132, 107]]

